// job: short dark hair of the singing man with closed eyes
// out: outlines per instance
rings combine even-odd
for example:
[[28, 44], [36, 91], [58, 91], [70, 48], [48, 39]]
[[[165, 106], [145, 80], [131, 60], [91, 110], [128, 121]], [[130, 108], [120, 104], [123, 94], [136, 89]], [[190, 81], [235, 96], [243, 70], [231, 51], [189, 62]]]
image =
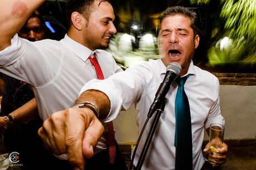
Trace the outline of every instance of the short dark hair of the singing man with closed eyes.
[[196, 13], [186, 7], [174, 6], [174, 7], [168, 7], [167, 9], [165, 9], [165, 11], [163, 11], [159, 16], [160, 26], [164, 18], [169, 16], [174, 16], [176, 14], [181, 14], [190, 19], [191, 28], [194, 31], [194, 35], [196, 35]]

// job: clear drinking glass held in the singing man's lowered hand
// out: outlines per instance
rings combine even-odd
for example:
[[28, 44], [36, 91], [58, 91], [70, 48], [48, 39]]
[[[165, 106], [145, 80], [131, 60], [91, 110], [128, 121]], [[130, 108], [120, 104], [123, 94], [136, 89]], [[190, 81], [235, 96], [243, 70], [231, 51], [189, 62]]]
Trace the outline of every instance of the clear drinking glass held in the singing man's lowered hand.
[[224, 126], [222, 124], [213, 123], [210, 125], [210, 144], [208, 152], [208, 161], [211, 164], [216, 164], [218, 161], [213, 158], [213, 155], [218, 155], [216, 151], [223, 147], [223, 138], [224, 138]]

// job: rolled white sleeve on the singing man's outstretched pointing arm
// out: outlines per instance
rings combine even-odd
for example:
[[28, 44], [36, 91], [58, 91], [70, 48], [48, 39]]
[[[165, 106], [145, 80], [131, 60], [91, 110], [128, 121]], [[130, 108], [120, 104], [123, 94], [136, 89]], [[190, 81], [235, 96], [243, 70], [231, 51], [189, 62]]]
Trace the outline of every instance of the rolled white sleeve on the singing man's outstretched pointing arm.
[[104, 80], [93, 79], [82, 87], [81, 92], [97, 89], [110, 99], [110, 114], [103, 122], [110, 122], [121, 110], [128, 109], [138, 99], [145, 88], [144, 74], [140, 67], [130, 67], [124, 72], [116, 73]]

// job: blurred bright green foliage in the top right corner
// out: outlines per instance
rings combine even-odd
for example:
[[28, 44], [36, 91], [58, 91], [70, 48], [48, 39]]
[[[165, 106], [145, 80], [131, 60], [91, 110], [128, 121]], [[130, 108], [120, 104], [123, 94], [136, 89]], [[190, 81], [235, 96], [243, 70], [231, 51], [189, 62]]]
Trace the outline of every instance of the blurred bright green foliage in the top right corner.
[[221, 1], [220, 18], [224, 19], [224, 30], [220, 32], [224, 38], [232, 39], [229, 48], [222, 48], [219, 39], [211, 44], [208, 51], [208, 66], [237, 63], [248, 66], [256, 65], [256, 1], [227, 0]]

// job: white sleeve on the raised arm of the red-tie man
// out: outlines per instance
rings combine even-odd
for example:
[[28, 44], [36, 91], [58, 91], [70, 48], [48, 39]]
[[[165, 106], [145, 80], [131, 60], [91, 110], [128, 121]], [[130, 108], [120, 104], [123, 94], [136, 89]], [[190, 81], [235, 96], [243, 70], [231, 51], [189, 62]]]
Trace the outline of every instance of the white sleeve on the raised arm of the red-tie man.
[[[32, 84], [34, 87], [42, 86], [56, 75], [61, 62], [56, 64], [55, 58], [62, 56], [61, 47], [53, 47], [52, 43], [45, 40], [29, 42], [18, 37], [17, 34], [11, 39], [11, 43], [11, 46], [0, 51], [2, 73]], [[56, 50], [53, 50], [55, 48]]]

